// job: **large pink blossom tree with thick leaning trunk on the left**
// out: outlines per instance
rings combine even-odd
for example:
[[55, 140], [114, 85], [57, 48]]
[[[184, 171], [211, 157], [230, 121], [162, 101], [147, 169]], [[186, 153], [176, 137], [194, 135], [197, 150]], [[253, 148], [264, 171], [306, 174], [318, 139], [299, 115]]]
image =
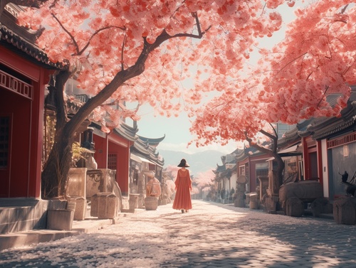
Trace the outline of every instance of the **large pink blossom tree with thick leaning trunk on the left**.
[[[19, 2], [43, 2], [21, 14], [19, 23], [41, 30], [38, 46], [51, 61], [63, 63], [55, 80], [55, 143], [42, 173], [43, 197], [52, 198], [65, 192], [73, 136], [90, 114], [108, 132], [121, 116], [137, 119], [135, 111], [124, 107], [119, 114], [108, 102], [149, 103], [171, 116], [198, 104], [206, 92], [224, 90], [227, 77], [239, 76], [256, 38], [280, 28], [281, 15], [273, 9], [285, 1]], [[68, 119], [63, 86], [74, 73], [91, 97]], [[189, 79], [194, 85], [182, 87]], [[111, 116], [109, 125], [103, 112]]]

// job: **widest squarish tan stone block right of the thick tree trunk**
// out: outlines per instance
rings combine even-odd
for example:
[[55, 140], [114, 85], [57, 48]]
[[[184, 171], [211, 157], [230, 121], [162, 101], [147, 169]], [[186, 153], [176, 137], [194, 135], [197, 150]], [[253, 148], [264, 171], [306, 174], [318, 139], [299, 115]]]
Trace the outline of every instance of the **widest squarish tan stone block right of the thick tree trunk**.
[[119, 198], [114, 193], [95, 193], [91, 198], [90, 216], [99, 219], [113, 219], [117, 217]]

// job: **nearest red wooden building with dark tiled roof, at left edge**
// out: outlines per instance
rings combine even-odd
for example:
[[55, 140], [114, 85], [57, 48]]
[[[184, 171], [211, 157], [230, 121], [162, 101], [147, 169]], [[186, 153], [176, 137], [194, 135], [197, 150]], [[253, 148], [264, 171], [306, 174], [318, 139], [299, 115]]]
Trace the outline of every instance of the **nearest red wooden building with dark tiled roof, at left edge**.
[[[8, 4], [0, 25], [0, 198], [39, 198], [46, 84], [56, 65], [16, 25]], [[49, 64], [48, 64], [49, 63]]]

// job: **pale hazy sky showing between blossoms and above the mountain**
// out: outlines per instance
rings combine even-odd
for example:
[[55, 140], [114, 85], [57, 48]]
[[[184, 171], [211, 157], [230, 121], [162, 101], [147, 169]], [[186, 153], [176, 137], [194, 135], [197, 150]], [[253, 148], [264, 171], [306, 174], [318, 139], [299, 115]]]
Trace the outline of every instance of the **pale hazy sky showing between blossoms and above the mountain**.
[[[293, 10], [298, 6], [305, 6], [308, 1], [302, 3], [302, 1], [296, 1], [293, 9], [288, 8], [286, 4], [281, 6], [278, 10], [281, 12], [284, 21], [291, 21], [294, 17]], [[278, 43], [283, 40], [285, 27], [278, 33], [275, 33], [271, 38], [263, 38], [260, 42], [261, 46], [271, 48], [273, 43]], [[256, 57], [251, 57], [252, 61], [256, 62]], [[251, 63], [253, 64], [253, 63]], [[206, 151], [208, 149], [214, 149], [221, 151], [223, 154], [229, 154], [234, 151], [238, 144], [231, 141], [227, 146], [221, 146], [220, 144], [214, 144], [211, 146], [197, 148], [195, 145], [189, 146], [187, 144], [192, 140], [192, 134], [189, 132], [191, 123], [187, 114], [182, 113], [179, 117], [160, 117], [154, 116], [153, 110], [149, 105], [140, 108], [141, 120], [137, 122], [140, 136], [148, 138], [159, 138], [165, 136], [165, 139], [159, 144], [157, 149], [172, 150], [172, 151], [184, 151], [192, 154], [197, 151]]]

